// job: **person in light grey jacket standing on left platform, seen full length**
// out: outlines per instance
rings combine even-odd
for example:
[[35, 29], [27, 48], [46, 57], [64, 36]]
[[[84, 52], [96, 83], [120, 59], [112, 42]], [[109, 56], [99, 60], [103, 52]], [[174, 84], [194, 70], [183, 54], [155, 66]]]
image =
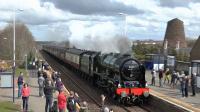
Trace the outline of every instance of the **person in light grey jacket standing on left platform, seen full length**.
[[40, 77], [38, 78], [38, 85], [39, 85], [39, 96], [43, 97], [44, 96], [44, 82], [45, 79], [42, 75], [42, 73], [40, 74]]

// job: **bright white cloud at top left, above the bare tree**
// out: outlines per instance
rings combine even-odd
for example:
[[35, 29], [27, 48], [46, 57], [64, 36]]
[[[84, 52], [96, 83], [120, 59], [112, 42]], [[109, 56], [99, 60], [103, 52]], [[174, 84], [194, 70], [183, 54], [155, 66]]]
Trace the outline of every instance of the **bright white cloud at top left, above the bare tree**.
[[0, 12], [3, 16], [0, 17], [0, 21], [11, 21], [14, 10], [16, 20], [31, 25], [48, 24], [68, 19], [67, 13], [55, 8], [53, 3], [45, 2], [42, 6], [40, 0], [1, 0]]

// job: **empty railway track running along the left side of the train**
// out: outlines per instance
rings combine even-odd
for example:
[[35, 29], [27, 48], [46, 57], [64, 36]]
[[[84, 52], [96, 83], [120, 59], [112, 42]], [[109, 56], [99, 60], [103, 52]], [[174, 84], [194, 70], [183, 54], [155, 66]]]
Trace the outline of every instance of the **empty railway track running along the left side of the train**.
[[[59, 63], [58, 60], [55, 60], [54, 57], [45, 52], [41, 53], [54, 70], [63, 74], [61, 78], [66, 88], [79, 93], [81, 101], [87, 101], [89, 103], [90, 112], [99, 112], [102, 106], [100, 99], [102, 91], [94, 86], [91, 86], [91, 84], [88, 82], [83, 81], [80, 77], [75, 75], [75, 73], [67, 69], [62, 62]], [[147, 112], [138, 106], [126, 107], [122, 105], [116, 105], [111, 101], [110, 98], [107, 99], [108, 100], [106, 100], [105, 105], [109, 108], [112, 108], [114, 112]]]

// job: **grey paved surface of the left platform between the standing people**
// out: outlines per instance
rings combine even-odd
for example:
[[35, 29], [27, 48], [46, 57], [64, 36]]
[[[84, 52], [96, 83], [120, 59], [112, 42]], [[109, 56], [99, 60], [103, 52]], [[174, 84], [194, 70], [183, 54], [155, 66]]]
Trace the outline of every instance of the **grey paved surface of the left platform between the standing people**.
[[[30, 76], [25, 79], [25, 82], [29, 84], [30, 87], [30, 97], [29, 97], [29, 110], [31, 112], [45, 112], [45, 97], [39, 97], [39, 89], [37, 84], [37, 74], [36, 71], [29, 71]], [[15, 79], [17, 80], [17, 78]], [[22, 99], [17, 98], [17, 84], [15, 84], [15, 103], [21, 105]], [[0, 101], [12, 101], [13, 98], [12, 88], [0, 88]], [[54, 94], [54, 98], [55, 98]]]

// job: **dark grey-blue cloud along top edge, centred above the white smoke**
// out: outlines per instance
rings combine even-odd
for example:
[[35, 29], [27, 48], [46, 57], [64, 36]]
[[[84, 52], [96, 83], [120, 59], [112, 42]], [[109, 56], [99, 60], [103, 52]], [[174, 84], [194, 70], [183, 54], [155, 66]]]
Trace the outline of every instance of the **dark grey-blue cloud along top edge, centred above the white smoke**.
[[115, 0], [48, 0], [59, 9], [81, 15], [117, 15], [118, 13], [141, 14], [142, 11]]

